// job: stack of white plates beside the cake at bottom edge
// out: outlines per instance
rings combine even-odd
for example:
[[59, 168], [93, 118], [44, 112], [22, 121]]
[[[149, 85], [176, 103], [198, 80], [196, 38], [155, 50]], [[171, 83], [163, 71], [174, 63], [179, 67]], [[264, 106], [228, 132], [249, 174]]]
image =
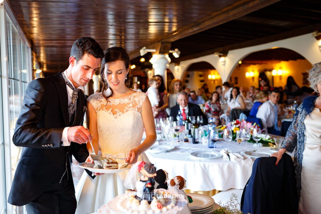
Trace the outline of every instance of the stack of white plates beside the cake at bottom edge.
[[192, 203], [188, 204], [191, 213], [193, 214], [209, 214], [213, 213], [214, 199], [203, 194], [187, 193], [193, 199]]

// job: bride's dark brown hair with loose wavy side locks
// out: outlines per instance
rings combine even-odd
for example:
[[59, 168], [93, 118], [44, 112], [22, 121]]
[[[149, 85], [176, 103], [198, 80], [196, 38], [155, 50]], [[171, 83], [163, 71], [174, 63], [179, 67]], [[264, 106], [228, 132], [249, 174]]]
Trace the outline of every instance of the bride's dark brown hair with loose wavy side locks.
[[[106, 77], [104, 75], [105, 64], [106, 63], [110, 63], [110, 62], [115, 62], [117, 60], [120, 60], [120, 61], [124, 62], [125, 68], [126, 68], [126, 70], [128, 70], [127, 79], [125, 80], [125, 85], [126, 85], [126, 87], [130, 86], [130, 81], [129, 80], [130, 80], [130, 78], [132, 76], [130, 75], [129, 56], [128, 56], [126, 50], [124, 48], [122, 48], [122, 47], [109, 47], [109, 48], [107, 48], [104, 51], [104, 57], [102, 58], [101, 63], [100, 63], [100, 82], [102, 84], [101, 91], [102, 91], [102, 95], [104, 96], [104, 98], [106, 100], [107, 100], [108, 97], [113, 96], [114, 92], [110, 88], [110, 86], [108, 86]], [[108, 97], [106, 97], [105, 91], [108, 88], [111, 90], [111, 94]]]

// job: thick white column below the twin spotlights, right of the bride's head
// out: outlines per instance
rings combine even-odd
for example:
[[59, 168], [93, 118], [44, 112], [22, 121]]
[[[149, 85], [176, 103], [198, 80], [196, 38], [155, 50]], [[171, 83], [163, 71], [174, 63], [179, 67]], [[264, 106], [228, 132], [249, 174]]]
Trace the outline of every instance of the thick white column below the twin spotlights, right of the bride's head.
[[151, 61], [155, 70], [155, 75], [159, 74], [164, 79], [165, 87], [167, 88], [167, 72], [166, 69], [169, 66], [170, 58], [167, 54], [154, 54]]

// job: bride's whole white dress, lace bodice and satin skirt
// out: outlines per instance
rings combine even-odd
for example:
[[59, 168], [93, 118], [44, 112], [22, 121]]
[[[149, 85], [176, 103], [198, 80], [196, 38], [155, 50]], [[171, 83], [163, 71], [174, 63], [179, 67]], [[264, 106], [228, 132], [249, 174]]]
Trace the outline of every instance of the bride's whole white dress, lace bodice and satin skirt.
[[[102, 93], [88, 98], [97, 113], [98, 139], [103, 156], [125, 158], [125, 153], [127, 155], [127, 152], [141, 143], [144, 130], [142, 105], [146, 97], [143, 92], [134, 92], [124, 98], [108, 98], [108, 102]], [[147, 161], [148, 158], [143, 153], [138, 157], [139, 160]], [[117, 161], [124, 162], [123, 159]], [[124, 186], [127, 173], [128, 170], [124, 170], [91, 179], [84, 172], [75, 190], [76, 213], [96, 212], [101, 205], [125, 193], [126, 189], [133, 188]]]

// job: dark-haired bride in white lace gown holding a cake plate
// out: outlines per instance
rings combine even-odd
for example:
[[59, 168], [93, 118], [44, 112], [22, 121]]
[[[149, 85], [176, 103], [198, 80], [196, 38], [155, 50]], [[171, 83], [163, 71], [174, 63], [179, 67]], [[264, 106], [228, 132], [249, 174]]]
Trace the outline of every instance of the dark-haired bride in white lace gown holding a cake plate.
[[[117, 157], [118, 162], [148, 161], [143, 152], [156, 141], [151, 103], [143, 92], [127, 88], [129, 56], [125, 49], [110, 47], [104, 53], [100, 68], [102, 92], [87, 100], [87, 125], [94, 150], [97, 153], [100, 147], [103, 156]], [[141, 143], [144, 128], [146, 138]], [[87, 149], [92, 152], [90, 143]], [[75, 190], [76, 213], [95, 212], [118, 194], [125, 193], [127, 188], [133, 188], [124, 186], [127, 171], [103, 174], [95, 179], [84, 173]]]

